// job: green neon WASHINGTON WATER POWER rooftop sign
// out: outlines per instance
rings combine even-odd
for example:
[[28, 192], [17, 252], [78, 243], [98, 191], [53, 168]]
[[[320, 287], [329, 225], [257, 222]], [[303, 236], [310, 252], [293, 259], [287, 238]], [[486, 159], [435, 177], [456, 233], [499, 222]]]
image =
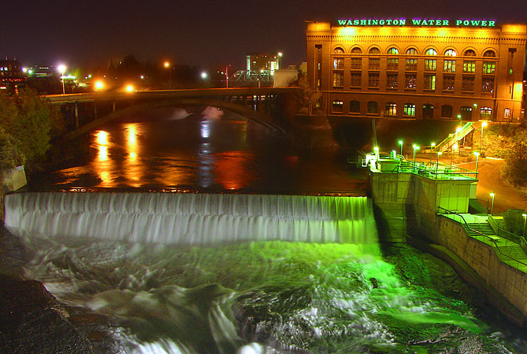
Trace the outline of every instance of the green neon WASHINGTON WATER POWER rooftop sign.
[[496, 27], [495, 20], [476, 20], [472, 18], [458, 18], [450, 21], [448, 18], [339, 18], [339, 26], [429, 26], [429, 27]]

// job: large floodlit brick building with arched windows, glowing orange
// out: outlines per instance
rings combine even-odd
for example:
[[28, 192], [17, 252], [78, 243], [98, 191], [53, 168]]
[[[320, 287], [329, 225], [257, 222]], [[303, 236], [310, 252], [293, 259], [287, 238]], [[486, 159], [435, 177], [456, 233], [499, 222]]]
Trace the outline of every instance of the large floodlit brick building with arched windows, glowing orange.
[[308, 79], [326, 114], [515, 122], [526, 39], [488, 20], [308, 22]]

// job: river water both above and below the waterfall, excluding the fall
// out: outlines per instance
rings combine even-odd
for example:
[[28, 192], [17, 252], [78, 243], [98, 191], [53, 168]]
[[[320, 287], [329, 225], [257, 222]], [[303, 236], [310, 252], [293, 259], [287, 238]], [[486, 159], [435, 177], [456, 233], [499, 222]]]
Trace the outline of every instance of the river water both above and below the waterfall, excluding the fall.
[[[294, 150], [208, 116], [115, 123], [31, 188], [365, 195], [347, 153]], [[209, 235], [214, 239], [214, 231]], [[407, 245], [256, 240], [178, 246], [25, 236], [26, 275], [115, 353], [527, 353], [450, 266]], [[93, 317], [91, 317], [93, 318]], [[89, 320], [80, 326], [90, 332]], [[101, 321], [96, 321], [100, 323]], [[93, 336], [91, 336], [93, 337]]]

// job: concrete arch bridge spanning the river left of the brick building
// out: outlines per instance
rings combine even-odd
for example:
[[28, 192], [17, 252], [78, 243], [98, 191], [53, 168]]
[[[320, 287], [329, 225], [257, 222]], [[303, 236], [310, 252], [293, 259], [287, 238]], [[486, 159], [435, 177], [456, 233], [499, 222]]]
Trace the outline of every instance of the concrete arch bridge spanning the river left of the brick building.
[[67, 122], [69, 138], [77, 137], [117, 118], [157, 107], [211, 106], [242, 114], [266, 130], [285, 133], [282, 122], [271, 118], [280, 95], [294, 88], [213, 88], [195, 90], [160, 90], [132, 93], [79, 93], [47, 95]]

